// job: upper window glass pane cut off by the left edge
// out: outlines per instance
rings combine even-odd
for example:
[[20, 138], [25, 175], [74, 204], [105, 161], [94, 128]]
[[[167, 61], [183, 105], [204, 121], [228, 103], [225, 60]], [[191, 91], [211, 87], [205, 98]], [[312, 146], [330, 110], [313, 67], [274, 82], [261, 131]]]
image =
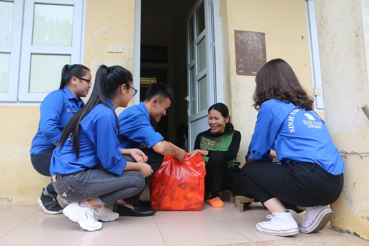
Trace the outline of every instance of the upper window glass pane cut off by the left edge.
[[14, 2], [0, 1], [0, 44], [11, 44]]

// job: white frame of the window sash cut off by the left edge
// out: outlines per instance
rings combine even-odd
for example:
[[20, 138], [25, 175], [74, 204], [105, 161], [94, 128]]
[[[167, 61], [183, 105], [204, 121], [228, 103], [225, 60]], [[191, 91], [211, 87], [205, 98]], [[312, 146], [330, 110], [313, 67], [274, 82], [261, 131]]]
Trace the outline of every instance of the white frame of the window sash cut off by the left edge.
[[10, 0], [8, 2], [14, 3], [11, 45], [0, 45], [0, 52], [10, 53], [10, 70], [8, 80], [8, 92], [0, 92], [0, 100], [17, 101], [18, 81], [19, 81], [18, 74], [21, 54], [21, 37], [22, 37], [22, 22], [23, 22], [23, 14], [17, 15], [17, 13], [23, 13], [23, 1]]

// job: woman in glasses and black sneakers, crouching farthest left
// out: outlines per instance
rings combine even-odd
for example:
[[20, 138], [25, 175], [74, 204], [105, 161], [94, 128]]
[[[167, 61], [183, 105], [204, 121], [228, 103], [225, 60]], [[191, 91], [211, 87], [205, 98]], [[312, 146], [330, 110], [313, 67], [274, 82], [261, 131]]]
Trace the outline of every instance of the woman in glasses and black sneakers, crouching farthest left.
[[[62, 131], [72, 116], [83, 107], [81, 97], [86, 97], [91, 88], [90, 69], [80, 64], [65, 65], [59, 90], [49, 93], [40, 106], [38, 130], [32, 140], [31, 162], [34, 169], [50, 175], [52, 152], [58, 145]], [[58, 194], [50, 183], [38, 199], [46, 214], [60, 214], [63, 208], [56, 200]]]

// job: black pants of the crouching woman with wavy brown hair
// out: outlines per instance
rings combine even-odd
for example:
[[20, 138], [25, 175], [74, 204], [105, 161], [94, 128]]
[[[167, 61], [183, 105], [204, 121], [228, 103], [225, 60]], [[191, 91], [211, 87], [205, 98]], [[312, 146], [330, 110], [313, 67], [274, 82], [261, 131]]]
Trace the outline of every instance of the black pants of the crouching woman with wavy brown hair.
[[315, 163], [290, 161], [287, 165], [248, 162], [241, 169], [242, 184], [264, 203], [279, 198], [287, 209], [328, 205], [341, 194], [344, 175], [334, 175]]

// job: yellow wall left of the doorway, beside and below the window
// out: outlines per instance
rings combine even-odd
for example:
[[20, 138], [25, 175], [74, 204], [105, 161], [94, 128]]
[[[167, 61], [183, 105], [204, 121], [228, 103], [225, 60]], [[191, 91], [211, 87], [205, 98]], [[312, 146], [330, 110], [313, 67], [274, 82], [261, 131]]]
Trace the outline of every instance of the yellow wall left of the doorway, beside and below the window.
[[[84, 65], [93, 77], [101, 63], [121, 65], [133, 73], [134, 4], [134, 0], [87, 1]], [[123, 52], [109, 53], [108, 45], [122, 45]], [[39, 107], [1, 106], [0, 114], [0, 204], [35, 203], [50, 183], [49, 177], [33, 169], [30, 160]]]

